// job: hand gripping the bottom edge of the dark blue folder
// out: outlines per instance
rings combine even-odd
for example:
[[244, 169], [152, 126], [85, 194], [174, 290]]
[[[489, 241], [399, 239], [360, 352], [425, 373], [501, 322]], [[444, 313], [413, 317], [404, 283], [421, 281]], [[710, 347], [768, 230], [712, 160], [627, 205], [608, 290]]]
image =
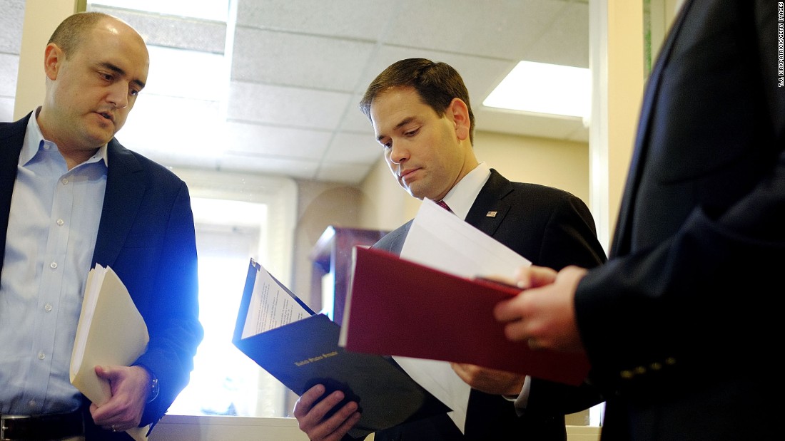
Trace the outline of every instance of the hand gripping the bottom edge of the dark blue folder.
[[360, 412], [357, 411], [357, 403], [350, 401], [330, 418], [324, 419], [324, 415], [344, 399], [343, 392], [335, 391], [316, 403], [324, 391], [323, 385], [315, 385], [305, 391], [294, 403], [294, 418], [311, 441], [338, 441], [360, 421]]

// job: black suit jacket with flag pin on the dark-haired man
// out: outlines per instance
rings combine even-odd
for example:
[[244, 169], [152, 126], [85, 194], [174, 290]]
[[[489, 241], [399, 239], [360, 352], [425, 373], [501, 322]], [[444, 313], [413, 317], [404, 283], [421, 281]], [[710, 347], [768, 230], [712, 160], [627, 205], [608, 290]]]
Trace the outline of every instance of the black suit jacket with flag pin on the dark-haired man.
[[[496, 211], [495, 217], [487, 217]], [[535, 265], [561, 269], [568, 265], [593, 267], [605, 260], [597, 241], [594, 220], [578, 197], [563, 190], [528, 183], [511, 183], [491, 169], [491, 177], [477, 195], [466, 222], [505, 244]], [[382, 237], [374, 248], [400, 254], [411, 221]], [[374, 436], [391, 440], [564, 440], [564, 414], [601, 403], [589, 386], [579, 388], [532, 379], [528, 407], [518, 417], [513, 403], [498, 395], [472, 390], [463, 436], [447, 415], [400, 425]]]

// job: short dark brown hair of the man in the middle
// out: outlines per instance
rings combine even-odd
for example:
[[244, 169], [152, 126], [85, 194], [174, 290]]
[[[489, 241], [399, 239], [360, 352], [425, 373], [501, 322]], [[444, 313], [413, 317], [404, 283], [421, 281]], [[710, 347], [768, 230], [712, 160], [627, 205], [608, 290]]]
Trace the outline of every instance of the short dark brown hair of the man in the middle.
[[371, 104], [380, 93], [395, 87], [411, 87], [417, 91], [422, 102], [433, 108], [440, 117], [444, 116], [452, 99], [460, 98], [469, 109], [469, 142], [474, 143], [474, 113], [469, 103], [469, 91], [463, 78], [447, 63], [433, 62], [425, 58], [407, 58], [392, 63], [378, 74], [363, 99], [360, 110], [371, 119]]

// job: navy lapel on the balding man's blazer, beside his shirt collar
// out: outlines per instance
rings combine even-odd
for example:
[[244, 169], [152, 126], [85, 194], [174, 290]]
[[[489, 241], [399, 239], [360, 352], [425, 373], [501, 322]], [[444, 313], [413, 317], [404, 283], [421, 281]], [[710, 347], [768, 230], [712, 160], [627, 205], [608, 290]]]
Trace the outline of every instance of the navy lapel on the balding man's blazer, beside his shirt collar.
[[93, 263], [112, 265], [120, 254], [144, 197], [144, 171], [115, 139], [108, 146], [109, 167]]

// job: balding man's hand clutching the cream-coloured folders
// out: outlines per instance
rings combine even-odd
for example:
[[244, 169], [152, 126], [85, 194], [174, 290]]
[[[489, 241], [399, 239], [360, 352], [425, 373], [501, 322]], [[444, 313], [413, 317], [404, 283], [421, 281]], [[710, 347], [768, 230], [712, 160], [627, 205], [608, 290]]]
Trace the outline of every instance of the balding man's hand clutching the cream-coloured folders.
[[96, 425], [122, 432], [139, 426], [150, 392], [150, 374], [140, 366], [97, 366], [96, 374], [111, 385], [111, 398], [98, 407], [90, 404]]

